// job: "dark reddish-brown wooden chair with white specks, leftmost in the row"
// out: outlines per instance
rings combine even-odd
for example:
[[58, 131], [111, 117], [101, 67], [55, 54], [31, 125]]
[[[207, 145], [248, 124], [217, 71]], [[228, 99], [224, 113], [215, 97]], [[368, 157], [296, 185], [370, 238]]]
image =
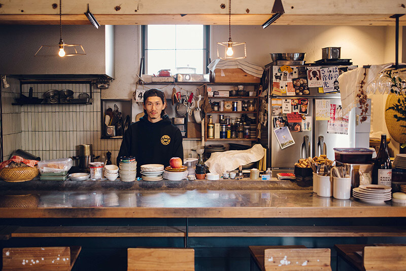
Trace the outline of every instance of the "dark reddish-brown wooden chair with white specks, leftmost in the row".
[[82, 247], [4, 248], [3, 270], [70, 271]]

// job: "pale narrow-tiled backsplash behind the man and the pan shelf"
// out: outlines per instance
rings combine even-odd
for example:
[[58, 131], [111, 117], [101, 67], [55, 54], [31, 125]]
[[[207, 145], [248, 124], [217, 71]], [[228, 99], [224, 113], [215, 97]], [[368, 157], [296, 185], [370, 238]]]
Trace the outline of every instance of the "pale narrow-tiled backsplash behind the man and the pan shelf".
[[[16, 81], [16, 82], [14, 82]], [[24, 105], [11, 106], [19, 96], [19, 82], [13, 79], [12, 87], [3, 90], [3, 136], [4, 156], [7, 160], [16, 149], [22, 149], [41, 159], [57, 159], [76, 155], [76, 146], [93, 144], [93, 153], [105, 156], [112, 152], [112, 162], [121, 145], [121, 139], [103, 140], [101, 137], [100, 90], [93, 88], [92, 105]], [[42, 98], [50, 89], [72, 89], [74, 97], [82, 92], [90, 93], [89, 84], [23, 84], [22, 92], [28, 96]], [[135, 114], [137, 114], [136, 112]], [[134, 114], [134, 113], [133, 113]], [[197, 157], [196, 148], [200, 141], [184, 140], [184, 157]]]

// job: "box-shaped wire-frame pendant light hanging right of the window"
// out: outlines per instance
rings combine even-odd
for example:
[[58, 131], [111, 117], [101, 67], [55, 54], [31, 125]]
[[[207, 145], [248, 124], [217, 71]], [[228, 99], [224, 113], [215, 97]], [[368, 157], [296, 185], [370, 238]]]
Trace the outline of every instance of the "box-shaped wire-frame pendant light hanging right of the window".
[[245, 42], [231, 40], [231, 0], [228, 0], [228, 41], [217, 43], [217, 57], [220, 59], [241, 59], [247, 57]]

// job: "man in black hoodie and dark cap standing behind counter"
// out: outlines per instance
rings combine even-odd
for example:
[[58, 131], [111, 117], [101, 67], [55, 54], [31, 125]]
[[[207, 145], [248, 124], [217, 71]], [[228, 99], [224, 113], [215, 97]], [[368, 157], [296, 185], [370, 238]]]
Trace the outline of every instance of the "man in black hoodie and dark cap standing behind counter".
[[117, 165], [120, 157], [135, 156], [137, 176], [143, 164], [169, 165], [172, 157], [183, 161], [182, 134], [165, 114], [166, 100], [162, 90], [149, 89], [144, 93], [144, 116], [129, 125], [124, 134]]

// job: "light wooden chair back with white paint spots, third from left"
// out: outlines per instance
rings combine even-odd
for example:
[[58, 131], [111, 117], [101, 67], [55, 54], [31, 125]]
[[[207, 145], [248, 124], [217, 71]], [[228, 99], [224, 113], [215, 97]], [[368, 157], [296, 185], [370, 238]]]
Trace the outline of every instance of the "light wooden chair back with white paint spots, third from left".
[[330, 270], [330, 249], [265, 249], [266, 271]]

